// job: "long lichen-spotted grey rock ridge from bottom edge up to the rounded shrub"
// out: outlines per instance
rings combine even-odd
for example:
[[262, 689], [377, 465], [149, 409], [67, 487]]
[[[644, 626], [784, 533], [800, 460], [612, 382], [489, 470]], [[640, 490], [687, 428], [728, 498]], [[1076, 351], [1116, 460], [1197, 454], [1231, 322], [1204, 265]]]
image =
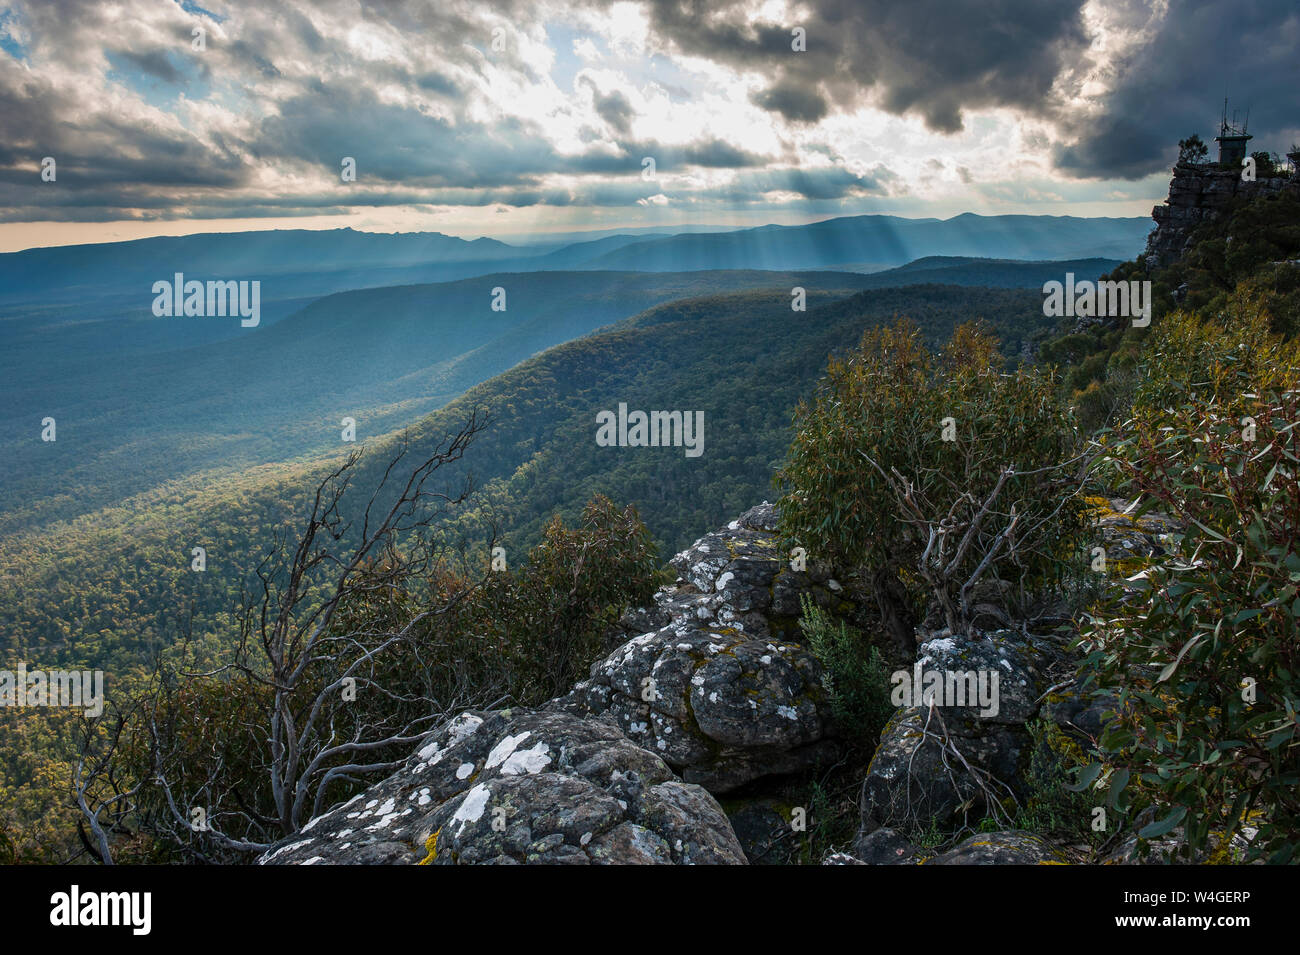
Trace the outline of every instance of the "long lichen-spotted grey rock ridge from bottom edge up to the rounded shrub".
[[838, 751], [820, 664], [792, 638], [803, 594], [853, 604], [780, 552], [771, 504], [672, 565], [676, 585], [624, 615], [621, 644], [571, 693], [462, 713], [259, 861], [744, 864], [711, 793]]

